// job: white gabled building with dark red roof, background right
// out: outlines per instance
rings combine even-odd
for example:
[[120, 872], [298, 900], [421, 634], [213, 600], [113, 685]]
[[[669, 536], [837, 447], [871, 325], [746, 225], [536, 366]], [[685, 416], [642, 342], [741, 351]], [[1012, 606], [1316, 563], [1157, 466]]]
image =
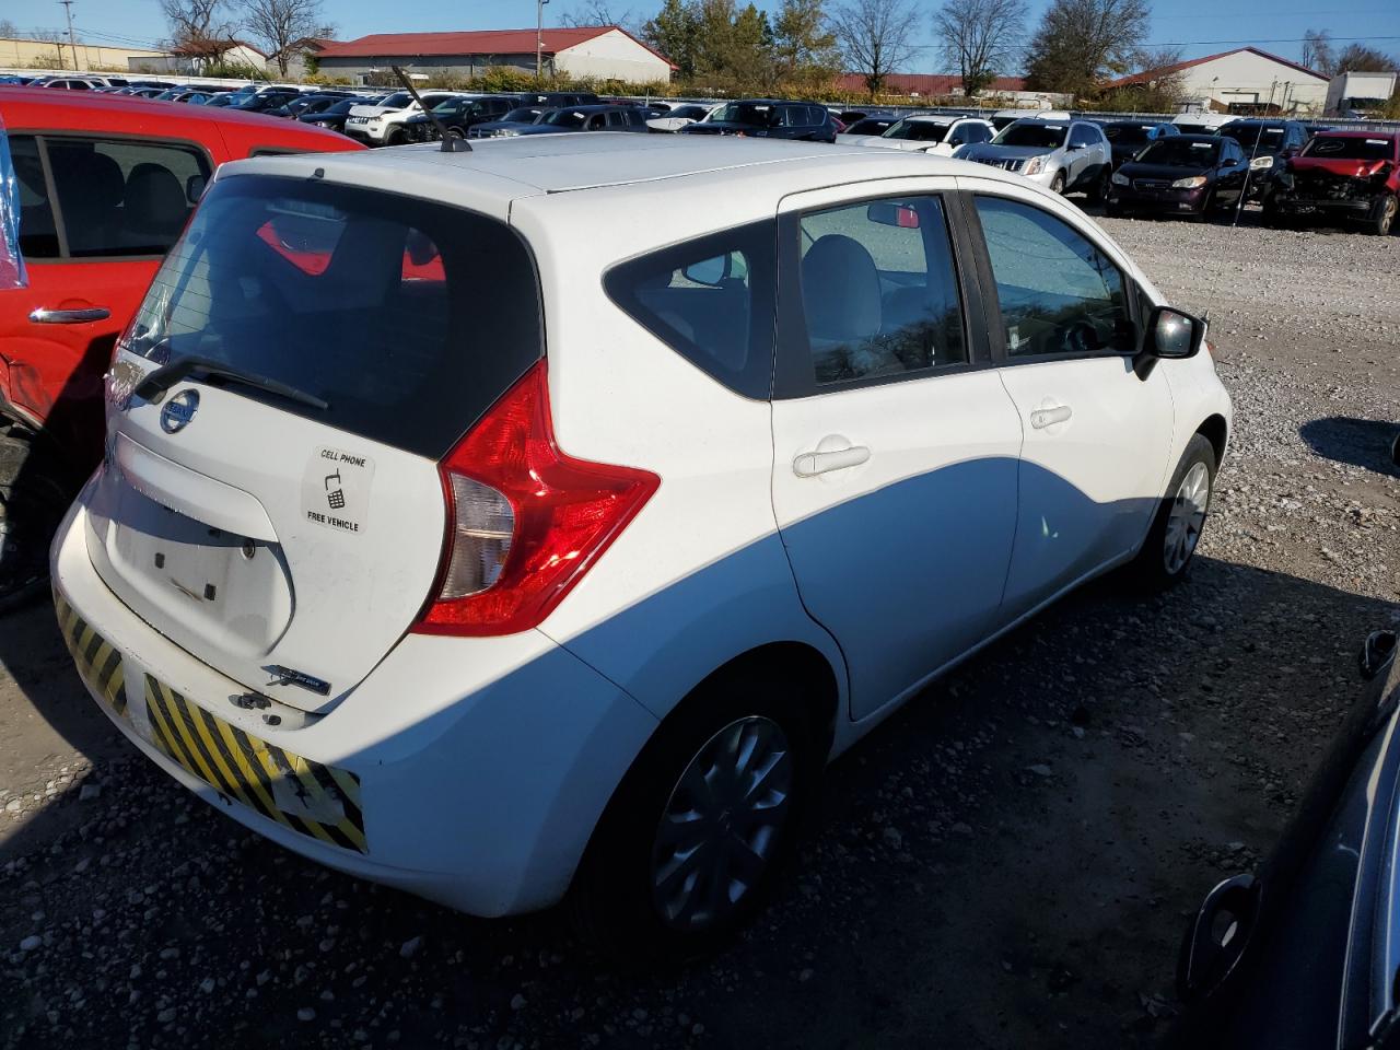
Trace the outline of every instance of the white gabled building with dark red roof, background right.
[[1109, 87], [1151, 85], [1175, 78], [1182, 101], [1193, 109], [1233, 113], [1322, 113], [1327, 77], [1259, 48], [1236, 48], [1203, 59], [1149, 69]]

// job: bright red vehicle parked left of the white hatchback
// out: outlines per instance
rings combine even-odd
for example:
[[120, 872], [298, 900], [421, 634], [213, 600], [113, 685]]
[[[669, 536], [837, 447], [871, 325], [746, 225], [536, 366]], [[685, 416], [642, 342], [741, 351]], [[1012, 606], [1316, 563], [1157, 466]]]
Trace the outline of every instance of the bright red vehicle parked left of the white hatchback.
[[4, 609], [43, 585], [48, 538], [102, 455], [112, 347], [214, 168], [363, 147], [295, 120], [71, 91], [0, 88], [0, 122], [28, 273], [0, 288]]

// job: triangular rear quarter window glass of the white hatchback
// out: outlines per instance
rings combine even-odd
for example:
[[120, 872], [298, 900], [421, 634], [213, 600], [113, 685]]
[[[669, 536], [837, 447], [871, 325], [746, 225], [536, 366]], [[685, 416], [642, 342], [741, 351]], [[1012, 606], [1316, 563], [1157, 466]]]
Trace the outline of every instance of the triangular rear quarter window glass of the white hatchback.
[[619, 263], [608, 297], [746, 398], [773, 389], [773, 227], [757, 223]]

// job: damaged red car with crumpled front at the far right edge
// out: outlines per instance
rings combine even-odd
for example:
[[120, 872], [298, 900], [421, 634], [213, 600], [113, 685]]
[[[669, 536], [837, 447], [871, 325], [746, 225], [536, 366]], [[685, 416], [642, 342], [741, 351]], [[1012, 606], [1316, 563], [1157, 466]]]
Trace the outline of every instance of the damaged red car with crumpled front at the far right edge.
[[1289, 158], [1266, 204], [1277, 224], [1362, 224], [1385, 235], [1400, 211], [1400, 134], [1322, 132]]

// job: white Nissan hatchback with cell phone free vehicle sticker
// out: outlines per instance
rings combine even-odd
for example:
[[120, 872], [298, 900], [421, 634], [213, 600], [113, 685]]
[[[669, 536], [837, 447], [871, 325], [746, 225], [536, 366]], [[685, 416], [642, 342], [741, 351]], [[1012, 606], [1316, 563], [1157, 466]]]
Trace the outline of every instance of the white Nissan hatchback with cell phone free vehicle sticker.
[[228, 164], [116, 350], [59, 620], [269, 839], [699, 951], [930, 679], [1186, 571], [1231, 406], [1161, 304], [1061, 199], [895, 150]]

